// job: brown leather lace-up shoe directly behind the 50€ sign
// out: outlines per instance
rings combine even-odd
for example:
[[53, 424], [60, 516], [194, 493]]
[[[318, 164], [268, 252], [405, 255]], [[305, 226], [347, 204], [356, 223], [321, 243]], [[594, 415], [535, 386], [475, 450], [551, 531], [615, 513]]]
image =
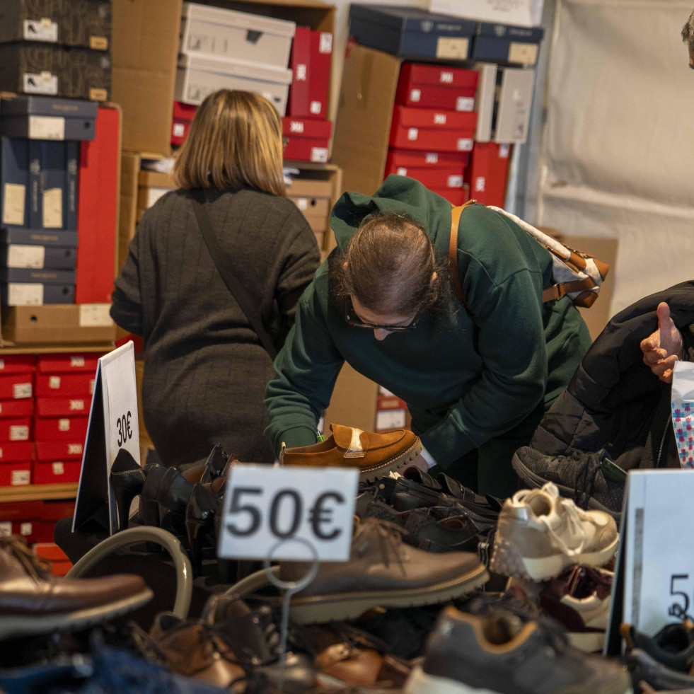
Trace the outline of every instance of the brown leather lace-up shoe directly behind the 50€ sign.
[[[380, 607], [432, 605], [481, 586], [489, 574], [476, 554], [432, 554], [402, 542], [403, 529], [366, 518], [354, 528], [347, 562], [322, 562], [316, 578], [291, 598], [299, 623], [357, 618]], [[279, 577], [298, 581], [311, 562], [280, 562]]]

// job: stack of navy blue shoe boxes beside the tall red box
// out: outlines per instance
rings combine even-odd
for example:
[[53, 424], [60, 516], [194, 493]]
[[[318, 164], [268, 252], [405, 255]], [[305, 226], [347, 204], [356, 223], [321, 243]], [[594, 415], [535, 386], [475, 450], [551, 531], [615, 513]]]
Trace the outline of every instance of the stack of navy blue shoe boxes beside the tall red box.
[[6, 306], [74, 303], [81, 140], [92, 101], [16, 96], [0, 103], [0, 296]]

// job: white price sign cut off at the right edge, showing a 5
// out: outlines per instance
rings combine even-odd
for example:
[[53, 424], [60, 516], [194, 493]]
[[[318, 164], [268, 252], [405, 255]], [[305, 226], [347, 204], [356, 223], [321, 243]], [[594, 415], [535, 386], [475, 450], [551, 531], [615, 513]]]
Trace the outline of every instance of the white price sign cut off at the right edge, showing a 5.
[[633, 470], [625, 502], [623, 621], [649, 635], [694, 614], [692, 470]]

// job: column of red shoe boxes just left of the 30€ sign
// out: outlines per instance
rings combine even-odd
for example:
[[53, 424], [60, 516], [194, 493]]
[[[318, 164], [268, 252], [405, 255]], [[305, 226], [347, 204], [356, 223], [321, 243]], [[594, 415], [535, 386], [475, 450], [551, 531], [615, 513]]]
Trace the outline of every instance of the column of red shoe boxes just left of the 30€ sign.
[[35, 484], [79, 482], [98, 354], [41, 354], [33, 421]]

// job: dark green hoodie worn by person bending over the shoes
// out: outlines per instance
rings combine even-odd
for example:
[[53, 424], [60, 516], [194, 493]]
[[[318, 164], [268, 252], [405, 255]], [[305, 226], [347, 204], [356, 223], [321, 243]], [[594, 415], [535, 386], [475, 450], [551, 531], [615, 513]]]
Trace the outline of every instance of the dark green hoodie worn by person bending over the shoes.
[[[411, 178], [391, 175], [373, 197], [347, 192], [332, 209], [337, 251], [365, 216], [408, 214], [427, 229], [446, 258], [451, 205]], [[466, 207], [458, 227], [458, 265], [467, 308], [451, 292], [450, 311], [430, 311], [417, 328], [379, 341], [347, 325], [329, 288], [329, 265], [316, 271], [299, 300], [296, 323], [274, 362], [265, 403], [266, 434], [275, 451], [316, 442], [316, 422], [328, 407], [343, 361], [407, 403], [412, 430], [446, 466], [504, 434], [567, 385], [590, 335], [571, 300], [543, 304], [552, 260], [507, 217], [482, 205]], [[349, 422], [340, 422], [349, 424]]]

